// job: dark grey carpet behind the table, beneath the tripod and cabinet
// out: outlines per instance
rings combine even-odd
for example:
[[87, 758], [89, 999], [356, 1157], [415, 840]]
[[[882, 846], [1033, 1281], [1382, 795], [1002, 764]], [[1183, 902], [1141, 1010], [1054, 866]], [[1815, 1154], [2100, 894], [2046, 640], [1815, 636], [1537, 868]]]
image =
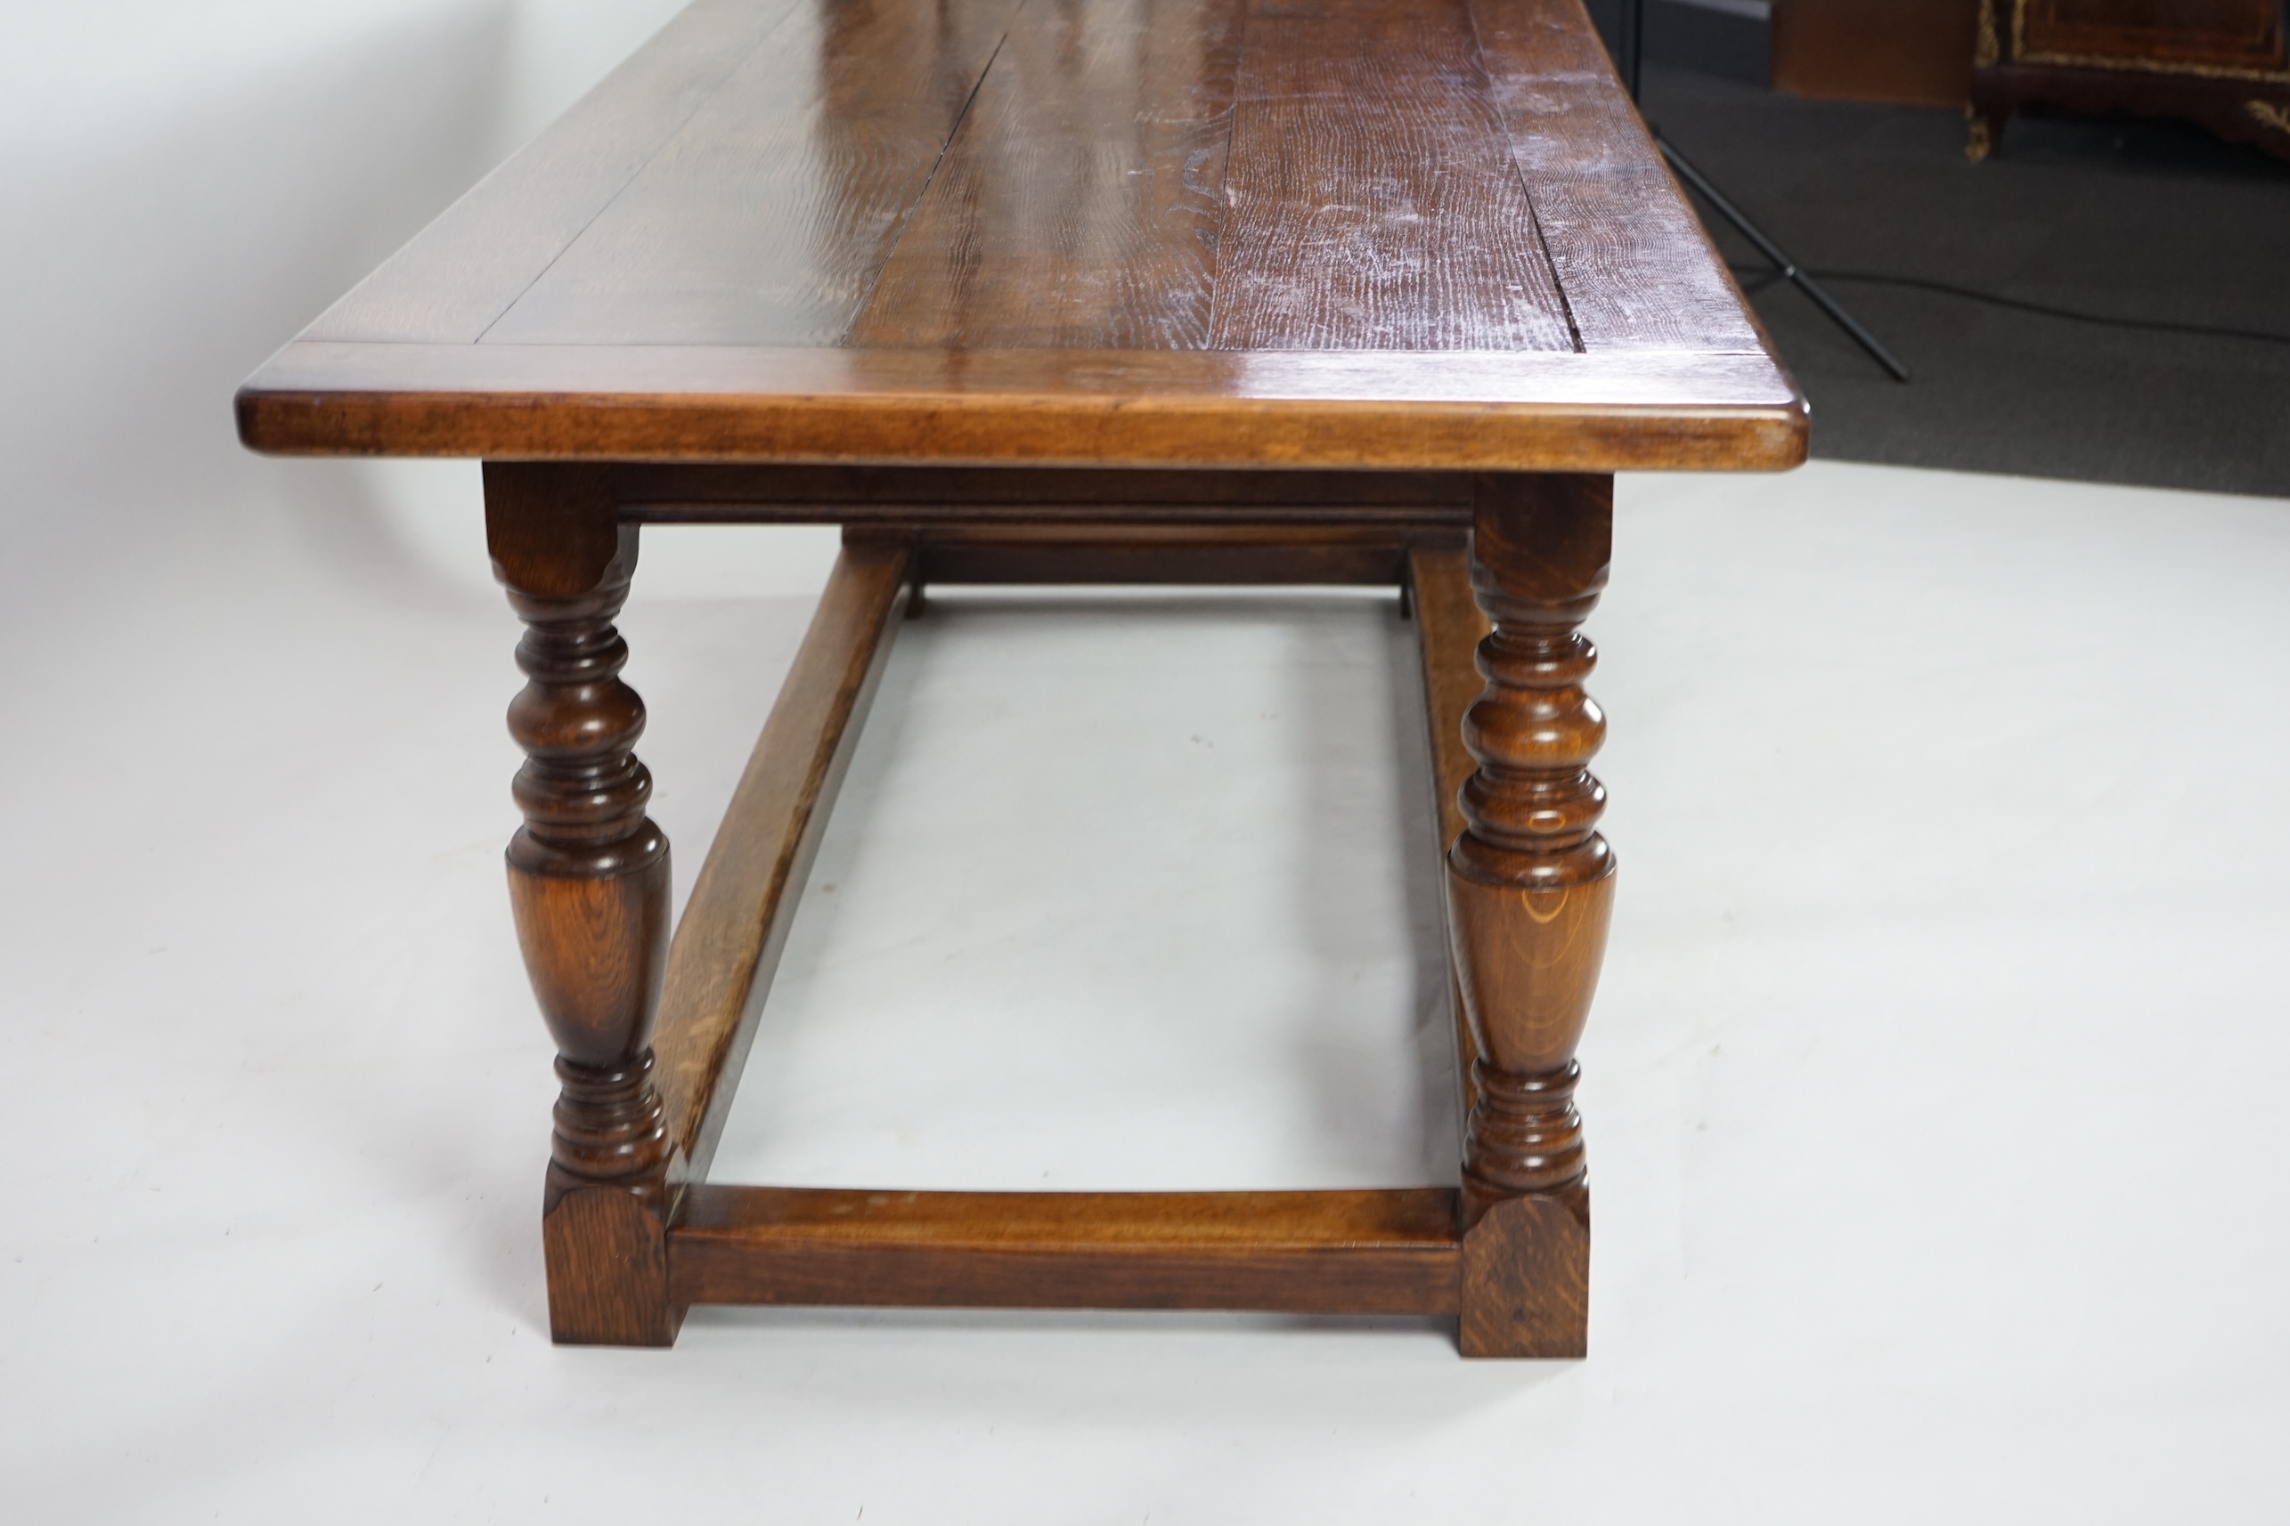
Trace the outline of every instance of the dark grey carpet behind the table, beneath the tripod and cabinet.
[[[1928, 279], [2285, 343], [2102, 327], [1933, 291], [1830, 291], [1892, 382], [1795, 288], [1754, 291], [1814, 403], [1814, 455], [2290, 496], [2290, 165], [2192, 126], [1800, 101], [1647, 64], [1644, 110], [1811, 270]], [[1704, 208], [1754, 286], [1761, 261]]]

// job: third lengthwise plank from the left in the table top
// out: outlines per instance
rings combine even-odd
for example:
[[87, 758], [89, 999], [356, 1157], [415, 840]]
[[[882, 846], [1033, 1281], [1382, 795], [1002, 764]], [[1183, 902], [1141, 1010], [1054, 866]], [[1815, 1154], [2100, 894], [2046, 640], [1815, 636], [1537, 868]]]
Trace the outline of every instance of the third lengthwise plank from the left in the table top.
[[1239, 32], [1237, 0], [1019, 11], [850, 343], [1202, 348]]

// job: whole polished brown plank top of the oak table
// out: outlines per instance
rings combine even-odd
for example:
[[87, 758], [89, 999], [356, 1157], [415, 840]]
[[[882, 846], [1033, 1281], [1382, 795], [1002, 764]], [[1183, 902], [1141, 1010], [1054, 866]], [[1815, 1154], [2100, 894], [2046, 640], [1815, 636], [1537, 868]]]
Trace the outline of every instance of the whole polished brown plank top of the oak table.
[[698, 0], [273, 357], [279, 453], [1772, 469], [1578, 0]]

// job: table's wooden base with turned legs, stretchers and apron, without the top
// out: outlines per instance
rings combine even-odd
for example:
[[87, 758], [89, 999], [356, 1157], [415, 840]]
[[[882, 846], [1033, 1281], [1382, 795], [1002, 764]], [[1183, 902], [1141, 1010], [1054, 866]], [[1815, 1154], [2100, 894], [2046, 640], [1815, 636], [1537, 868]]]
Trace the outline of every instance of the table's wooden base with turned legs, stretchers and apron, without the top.
[[[875, 517], [845, 531], [666, 952], [666, 842], [643, 817], [643, 705], [618, 677], [627, 650], [611, 618], [634, 572], [637, 512], [673, 522], [751, 496]], [[485, 499], [497, 572], [531, 627], [529, 684], [511, 709], [529, 753], [518, 787], [529, 824], [511, 874], [563, 1080], [543, 1219], [559, 1341], [664, 1345], [694, 1302], [859, 1302], [1452, 1313], [1472, 1357], [1585, 1350], [1589, 1201], [1571, 1048], [1596, 981], [1610, 858], [1589, 830], [1601, 794], [1582, 764], [1603, 723], [1580, 691], [1589, 650], [1573, 625], [1603, 583], [1610, 478], [495, 462]], [[1069, 512], [1095, 499], [1147, 517]], [[898, 517], [932, 506], [934, 517]], [[992, 508], [1012, 517], [955, 517]], [[1269, 517], [1216, 517], [1248, 510]], [[1470, 1103], [1461, 1192], [705, 1185], [898, 609], [932, 574], [1401, 590], [1424, 647], [1452, 842]], [[1472, 874], [1491, 876], [1493, 895]]]

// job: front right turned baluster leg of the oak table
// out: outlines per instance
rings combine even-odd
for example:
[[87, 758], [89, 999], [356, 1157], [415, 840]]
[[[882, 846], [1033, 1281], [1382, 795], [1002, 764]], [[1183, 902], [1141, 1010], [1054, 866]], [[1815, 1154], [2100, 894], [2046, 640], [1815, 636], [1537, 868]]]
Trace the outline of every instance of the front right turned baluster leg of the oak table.
[[1463, 1144], [1466, 1357], [1580, 1357], [1589, 1327], [1589, 1187], [1573, 1110], [1614, 906], [1587, 764], [1605, 716], [1576, 629], [1605, 588], [1614, 478], [1488, 476], [1470, 583], [1493, 631], [1463, 716], [1479, 762], [1447, 853], [1447, 922], [1479, 1059]]

